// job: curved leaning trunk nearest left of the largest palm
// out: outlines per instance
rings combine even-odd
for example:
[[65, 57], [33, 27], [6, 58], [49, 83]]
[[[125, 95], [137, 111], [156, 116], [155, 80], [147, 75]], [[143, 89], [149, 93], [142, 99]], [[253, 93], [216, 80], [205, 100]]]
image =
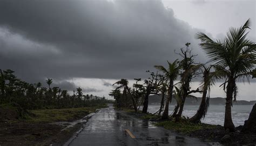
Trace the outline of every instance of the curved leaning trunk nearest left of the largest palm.
[[198, 122], [200, 122], [201, 118], [204, 116], [205, 108], [206, 108], [206, 95], [207, 95], [207, 89], [204, 89], [202, 101], [197, 110], [197, 113], [193, 117], [190, 118], [191, 122], [198, 123]]

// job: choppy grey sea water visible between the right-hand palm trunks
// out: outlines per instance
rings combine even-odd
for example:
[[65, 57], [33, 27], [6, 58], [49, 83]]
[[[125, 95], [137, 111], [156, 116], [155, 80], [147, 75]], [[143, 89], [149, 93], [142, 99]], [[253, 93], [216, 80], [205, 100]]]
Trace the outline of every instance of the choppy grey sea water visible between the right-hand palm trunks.
[[[196, 114], [199, 106], [184, 106], [183, 115], [187, 117], [192, 117]], [[253, 105], [249, 106], [238, 106], [234, 105], [232, 107], [232, 119], [235, 127], [239, 125], [244, 125], [245, 120], [248, 120], [249, 114], [252, 110]], [[148, 112], [155, 113], [159, 110], [160, 105], [149, 105]], [[173, 112], [174, 106], [169, 106], [169, 114]], [[201, 122], [207, 124], [219, 124], [224, 125], [225, 116], [225, 106], [224, 105], [210, 105], [208, 112]]]

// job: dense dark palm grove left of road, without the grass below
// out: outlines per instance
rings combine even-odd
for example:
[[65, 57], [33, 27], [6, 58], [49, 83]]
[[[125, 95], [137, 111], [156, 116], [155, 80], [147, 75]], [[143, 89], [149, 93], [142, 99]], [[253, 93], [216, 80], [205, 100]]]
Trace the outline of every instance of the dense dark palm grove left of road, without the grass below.
[[47, 79], [48, 88], [41, 82], [29, 84], [18, 79], [14, 71], [0, 69], [0, 104], [11, 104], [22, 109], [72, 108], [105, 104], [105, 98], [84, 95], [82, 88], [77, 88], [70, 95], [59, 87], [51, 87], [52, 79]]

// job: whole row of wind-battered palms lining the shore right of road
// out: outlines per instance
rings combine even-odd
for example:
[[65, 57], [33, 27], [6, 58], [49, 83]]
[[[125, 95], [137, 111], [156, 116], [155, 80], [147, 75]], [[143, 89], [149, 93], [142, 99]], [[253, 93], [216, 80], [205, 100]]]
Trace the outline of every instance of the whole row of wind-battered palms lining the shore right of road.
[[[172, 117], [177, 122], [181, 120], [184, 103], [191, 93], [201, 93], [202, 100], [197, 113], [190, 118], [191, 122], [199, 122], [207, 113], [210, 100], [210, 88], [216, 81], [223, 81], [226, 93], [225, 121], [224, 128], [234, 131], [232, 122], [231, 107], [233, 100], [237, 99], [237, 81], [250, 80], [250, 75], [255, 77], [256, 65], [256, 44], [247, 39], [247, 29], [250, 29], [250, 20], [239, 28], [233, 28], [227, 32], [224, 39], [212, 40], [205, 33], [197, 33], [199, 44], [209, 61], [206, 64], [194, 62], [197, 55], [192, 54], [190, 43], [180, 49], [181, 60], [168, 63], [168, 67], [154, 66], [161, 73], [151, 72], [151, 78], [144, 81], [142, 85], [136, 84], [128, 87], [128, 81], [121, 79], [114, 85], [120, 85], [110, 95], [116, 99], [117, 107], [133, 107], [137, 112], [140, 105], [143, 105], [143, 113], [147, 112], [148, 96], [150, 94], [161, 95], [161, 105], [158, 114], [164, 110], [162, 119]], [[211, 65], [210, 65], [211, 64]], [[193, 78], [202, 78], [201, 85], [197, 89], [191, 89], [190, 83]], [[180, 81], [176, 82], [177, 79]], [[120, 88], [124, 88], [123, 92]], [[164, 104], [165, 95], [166, 103]], [[174, 111], [169, 115], [169, 103], [172, 98], [177, 100]], [[130, 99], [130, 100], [129, 100]], [[137, 103], [140, 103], [137, 105]], [[142, 104], [143, 103], [143, 104]], [[139, 107], [138, 107], [139, 106]]]

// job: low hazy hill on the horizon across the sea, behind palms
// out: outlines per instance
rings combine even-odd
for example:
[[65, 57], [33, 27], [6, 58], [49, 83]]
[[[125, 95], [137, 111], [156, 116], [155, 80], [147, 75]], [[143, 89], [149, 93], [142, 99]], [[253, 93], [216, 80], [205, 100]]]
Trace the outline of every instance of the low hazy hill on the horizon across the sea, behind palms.
[[[167, 96], [165, 96], [167, 97]], [[193, 98], [194, 97], [194, 98]], [[195, 96], [191, 96], [191, 98], [187, 98], [185, 101], [185, 105], [200, 105], [202, 98], [195, 98]], [[161, 97], [158, 95], [150, 95], [149, 96], [149, 104], [160, 104]], [[176, 100], [173, 98], [171, 105], [176, 105]], [[225, 105], [225, 98], [210, 98], [210, 105]], [[238, 100], [237, 102], [233, 102], [233, 105], [254, 105], [256, 100], [253, 101], [245, 101]]]

